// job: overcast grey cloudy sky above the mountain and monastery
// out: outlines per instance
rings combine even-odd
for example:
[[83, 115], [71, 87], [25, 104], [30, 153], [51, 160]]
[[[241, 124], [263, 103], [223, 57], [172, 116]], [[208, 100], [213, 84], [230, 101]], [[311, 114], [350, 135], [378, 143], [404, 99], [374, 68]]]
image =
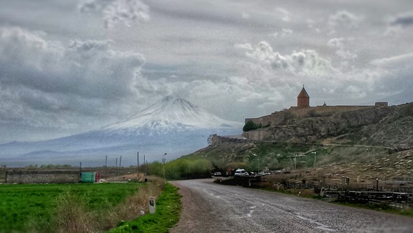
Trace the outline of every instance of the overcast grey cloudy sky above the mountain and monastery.
[[413, 101], [413, 1], [0, 0], [0, 142], [83, 133], [179, 94], [241, 121]]

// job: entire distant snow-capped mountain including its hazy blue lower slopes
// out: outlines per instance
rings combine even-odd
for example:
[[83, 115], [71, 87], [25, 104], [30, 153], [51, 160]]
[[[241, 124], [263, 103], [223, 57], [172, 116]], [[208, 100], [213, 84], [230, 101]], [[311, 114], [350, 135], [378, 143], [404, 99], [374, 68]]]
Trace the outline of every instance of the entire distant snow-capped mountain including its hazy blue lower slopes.
[[[11, 142], [0, 145], [0, 164], [79, 164], [102, 166], [104, 155], [123, 155], [125, 164], [135, 164], [136, 152], [148, 161], [176, 159], [208, 145], [211, 134], [234, 135], [242, 124], [226, 121], [177, 95], [168, 95], [138, 114], [96, 131], [41, 142]], [[87, 163], [85, 166], [88, 166]]]

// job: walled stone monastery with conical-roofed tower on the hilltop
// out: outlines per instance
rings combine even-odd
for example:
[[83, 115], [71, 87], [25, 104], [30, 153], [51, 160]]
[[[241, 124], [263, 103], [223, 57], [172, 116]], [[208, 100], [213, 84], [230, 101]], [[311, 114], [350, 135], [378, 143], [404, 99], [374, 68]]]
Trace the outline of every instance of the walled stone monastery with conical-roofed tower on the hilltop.
[[325, 103], [321, 106], [311, 107], [310, 96], [306, 89], [302, 88], [297, 96], [297, 106], [292, 106], [290, 109], [285, 109], [280, 112], [273, 112], [267, 116], [260, 116], [257, 118], [245, 119], [245, 124], [248, 121], [252, 121], [255, 124], [261, 124], [262, 126], [276, 126], [283, 123], [287, 119], [304, 118], [311, 116], [328, 116], [335, 112], [351, 111], [363, 108], [372, 107], [384, 107], [388, 106], [387, 102], [376, 102], [375, 105], [336, 105], [327, 106]]

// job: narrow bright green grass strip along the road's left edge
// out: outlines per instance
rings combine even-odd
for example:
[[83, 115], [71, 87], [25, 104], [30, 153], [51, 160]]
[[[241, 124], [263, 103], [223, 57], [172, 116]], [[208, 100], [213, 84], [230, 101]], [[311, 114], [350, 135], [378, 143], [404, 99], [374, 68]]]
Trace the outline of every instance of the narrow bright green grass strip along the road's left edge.
[[[120, 222], [111, 233], [163, 233], [173, 227], [180, 219], [182, 203], [178, 188], [167, 183], [163, 193], [156, 200], [156, 212], [145, 214], [135, 220]], [[148, 200], [149, 201], [149, 200]]]

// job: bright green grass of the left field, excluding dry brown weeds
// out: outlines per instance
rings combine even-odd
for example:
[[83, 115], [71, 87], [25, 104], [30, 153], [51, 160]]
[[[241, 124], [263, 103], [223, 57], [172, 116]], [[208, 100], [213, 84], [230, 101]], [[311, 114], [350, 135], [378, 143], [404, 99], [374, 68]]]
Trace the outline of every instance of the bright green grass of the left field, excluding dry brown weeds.
[[0, 185], [0, 232], [55, 232], [57, 205], [65, 195], [85, 211], [104, 213], [134, 194], [140, 184]]

